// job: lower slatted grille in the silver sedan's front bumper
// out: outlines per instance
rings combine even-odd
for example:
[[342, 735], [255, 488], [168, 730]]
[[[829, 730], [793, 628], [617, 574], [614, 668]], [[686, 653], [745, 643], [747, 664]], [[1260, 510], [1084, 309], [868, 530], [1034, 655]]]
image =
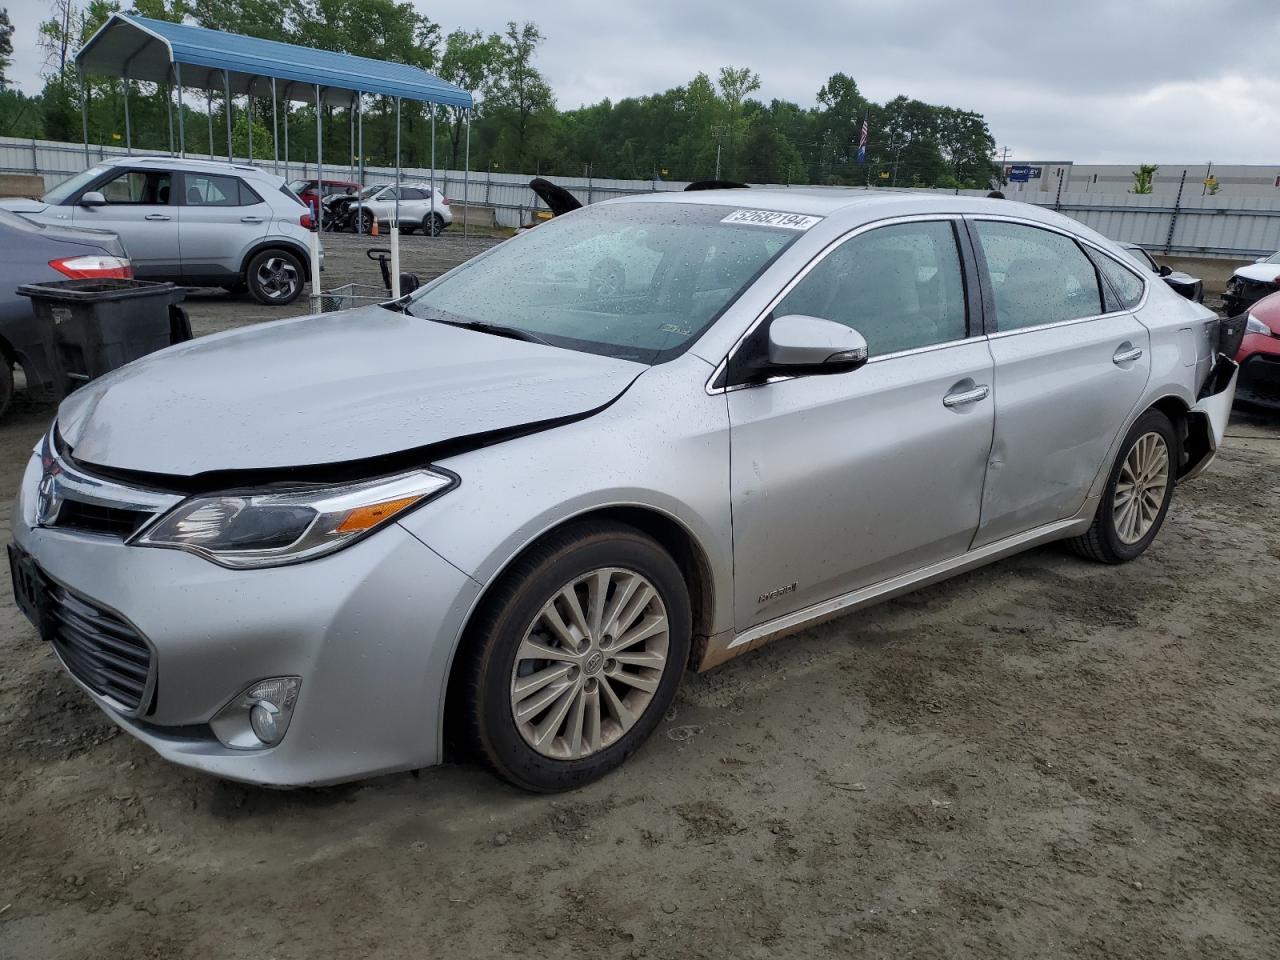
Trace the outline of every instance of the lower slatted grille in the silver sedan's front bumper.
[[45, 577], [51, 640], [77, 680], [133, 713], [151, 673], [151, 648], [120, 617]]

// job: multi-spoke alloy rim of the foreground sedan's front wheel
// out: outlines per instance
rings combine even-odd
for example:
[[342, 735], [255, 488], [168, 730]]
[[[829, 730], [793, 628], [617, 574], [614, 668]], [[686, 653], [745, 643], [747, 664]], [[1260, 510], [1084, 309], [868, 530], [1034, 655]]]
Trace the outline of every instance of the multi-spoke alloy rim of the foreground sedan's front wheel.
[[669, 649], [667, 608], [631, 570], [593, 570], [557, 591], [516, 652], [511, 710], [543, 756], [576, 760], [617, 742], [653, 701]]

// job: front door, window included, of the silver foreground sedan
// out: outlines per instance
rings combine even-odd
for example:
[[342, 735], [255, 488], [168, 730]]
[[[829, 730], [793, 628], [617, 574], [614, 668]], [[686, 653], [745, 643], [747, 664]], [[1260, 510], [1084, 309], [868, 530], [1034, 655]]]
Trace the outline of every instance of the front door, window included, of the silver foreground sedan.
[[957, 225], [859, 233], [773, 308], [852, 326], [870, 361], [727, 394], [739, 630], [969, 548], [995, 404]]

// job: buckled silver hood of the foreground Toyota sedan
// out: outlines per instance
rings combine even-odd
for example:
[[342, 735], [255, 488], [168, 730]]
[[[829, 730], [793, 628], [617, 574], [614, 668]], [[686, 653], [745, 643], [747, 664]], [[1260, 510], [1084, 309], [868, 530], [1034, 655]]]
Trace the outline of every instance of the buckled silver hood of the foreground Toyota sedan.
[[316, 467], [588, 415], [645, 369], [371, 306], [152, 353], [68, 397], [58, 426], [114, 470]]

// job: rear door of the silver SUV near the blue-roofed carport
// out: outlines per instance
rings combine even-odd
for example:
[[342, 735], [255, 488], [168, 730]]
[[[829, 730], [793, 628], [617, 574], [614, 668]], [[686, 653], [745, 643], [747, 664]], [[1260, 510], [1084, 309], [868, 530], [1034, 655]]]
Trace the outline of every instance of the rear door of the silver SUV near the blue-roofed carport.
[[239, 275], [244, 252], [271, 221], [271, 207], [239, 177], [183, 173], [182, 269], [188, 283]]

